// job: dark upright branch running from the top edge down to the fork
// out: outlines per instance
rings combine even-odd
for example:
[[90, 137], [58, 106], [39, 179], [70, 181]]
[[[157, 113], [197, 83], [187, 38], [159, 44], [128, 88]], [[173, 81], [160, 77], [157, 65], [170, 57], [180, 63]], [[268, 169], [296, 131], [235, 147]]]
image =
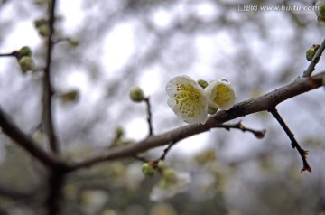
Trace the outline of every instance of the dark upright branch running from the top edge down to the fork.
[[51, 147], [51, 151], [53, 153], [58, 153], [59, 148], [57, 145], [57, 138], [55, 136], [53, 120], [52, 120], [52, 111], [51, 111], [51, 97], [52, 97], [52, 89], [51, 89], [51, 56], [53, 50], [53, 34], [54, 34], [54, 23], [55, 23], [55, 0], [51, 0], [51, 4], [49, 6], [49, 37], [48, 37], [48, 46], [46, 53], [46, 67], [44, 69], [43, 76], [43, 126], [44, 132], [48, 137], [49, 144]]

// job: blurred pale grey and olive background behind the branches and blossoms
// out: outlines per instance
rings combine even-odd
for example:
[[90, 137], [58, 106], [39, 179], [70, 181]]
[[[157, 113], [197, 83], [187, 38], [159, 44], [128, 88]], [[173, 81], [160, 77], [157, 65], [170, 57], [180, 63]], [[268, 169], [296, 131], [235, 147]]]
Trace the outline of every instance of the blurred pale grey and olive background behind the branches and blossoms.
[[[46, 0], [0, 0], [0, 53], [28, 45], [39, 68], [45, 40], [35, 28], [47, 17]], [[258, 5], [257, 10], [252, 5]], [[305, 51], [324, 39], [324, 25], [310, 10], [262, 11], [261, 5], [312, 6], [309, 0], [70, 0], [58, 1], [53, 52], [53, 113], [62, 157], [82, 160], [107, 149], [117, 126], [125, 140], [148, 134], [146, 107], [129, 99], [139, 86], [150, 97], [155, 134], [183, 126], [168, 107], [165, 84], [178, 75], [207, 81], [227, 77], [237, 102], [279, 88], [309, 65]], [[309, 7], [311, 8], [311, 7]], [[324, 70], [320, 59], [318, 71]], [[72, 97], [67, 97], [72, 93]], [[70, 94], [71, 95], [71, 94]], [[237, 118], [264, 139], [215, 129], [172, 148], [166, 164], [190, 173], [189, 189], [161, 202], [149, 200], [159, 176], [144, 179], [133, 159], [71, 173], [62, 214], [194, 215], [325, 214], [324, 89], [292, 98], [278, 110], [313, 173], [267, 112]], [[0, 105], [42, 147], [42, 72], [20, 70], [0, 59]], [[143, 154], [157, 158], [163, 147]], [[0, 214], [42, 214], [46, 172], [0, 134]]]

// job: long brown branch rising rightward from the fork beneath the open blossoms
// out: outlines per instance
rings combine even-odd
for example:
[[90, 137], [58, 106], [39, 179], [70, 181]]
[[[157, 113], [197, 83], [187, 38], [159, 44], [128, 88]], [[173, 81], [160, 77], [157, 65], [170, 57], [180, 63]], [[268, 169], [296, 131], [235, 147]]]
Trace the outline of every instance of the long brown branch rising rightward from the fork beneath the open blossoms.
[[107, 152], [94, 154], [93, 156], [86, 158], [84, 161], [70, 164], [68, 171], [74, 171], [79, 168], [88, 167], [107, 160], [132, 157], [154, 147], [167, 145], [171, 141], [177, 142], [186, 137], [208, 131], [209, 129], [219, 126], [231, 119], [244, 117], [259, 111], [267, 111], [288, 98], [293, 98], [311, 89], [319, 88], [321, 86], [321, 79], [324, 75], [325, 71], [310, 78], [295, 79], [292, 81], [292, 83], [289, 83], [282, 88], [275, 89], [272, 92], [266, 93], [263, 96], [240, 102], [228, 111], [218, 111], [217, 114], [209, 117], [205, 125], [198, 124], [181, 126], [162, 135], [148, 136], [146, 139], [135, 145], [125, 145], [113, 148]]

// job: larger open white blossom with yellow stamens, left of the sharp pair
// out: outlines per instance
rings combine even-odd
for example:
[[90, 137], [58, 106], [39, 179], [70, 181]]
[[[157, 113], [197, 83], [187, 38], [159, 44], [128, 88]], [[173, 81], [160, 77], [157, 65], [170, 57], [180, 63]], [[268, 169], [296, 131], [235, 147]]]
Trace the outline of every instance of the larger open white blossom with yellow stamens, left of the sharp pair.
[[208, 118], [209, 98], [204, 89], [189, 76], [177, 76], [167, 82], [167, 104], [173, 112], [189, 124], [205, 124]]

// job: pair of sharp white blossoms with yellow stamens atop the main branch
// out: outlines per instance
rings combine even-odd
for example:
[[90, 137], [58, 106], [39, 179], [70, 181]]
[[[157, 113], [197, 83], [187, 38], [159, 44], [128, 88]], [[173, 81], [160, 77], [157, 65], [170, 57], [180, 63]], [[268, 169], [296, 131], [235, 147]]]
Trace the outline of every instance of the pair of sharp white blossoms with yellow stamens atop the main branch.
[[228, 110], [235, 104], [235, 91], [228, 79], [212, 81], [203, 89], [189, 76], [177, 76], [166, 85], [167, 104], [184, 122], [205, 124], [210, 108]]

